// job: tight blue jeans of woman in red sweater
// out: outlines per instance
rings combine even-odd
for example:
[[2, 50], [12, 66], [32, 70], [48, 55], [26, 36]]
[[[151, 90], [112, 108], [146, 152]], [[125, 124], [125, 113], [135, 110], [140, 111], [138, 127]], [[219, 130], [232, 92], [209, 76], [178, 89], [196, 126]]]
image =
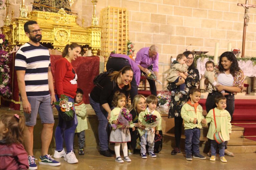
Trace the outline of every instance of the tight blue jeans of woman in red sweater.
[[[59, 101], [57, 95], [55, 95], [56, 100]], [[69, 101], [74, 102], [74, 98], [69, 97]], [[75, 110], [75, 106], [73, 105]], [[56, 106], [58, 112], [60, 112], [60, 107]], [[73, 144], [74, 144], [74, 137], [75, 137], [75, 130], [77, 127], [77, 115], [72, 121], [64, 120], [60, 114], [58, 114], [59, 123], [55, 129], [55, 142], [56, 142], [56, 150], [61, 151], [63, 150], [63, 141], [65, 141], [67, 153], [73, 151]]]

